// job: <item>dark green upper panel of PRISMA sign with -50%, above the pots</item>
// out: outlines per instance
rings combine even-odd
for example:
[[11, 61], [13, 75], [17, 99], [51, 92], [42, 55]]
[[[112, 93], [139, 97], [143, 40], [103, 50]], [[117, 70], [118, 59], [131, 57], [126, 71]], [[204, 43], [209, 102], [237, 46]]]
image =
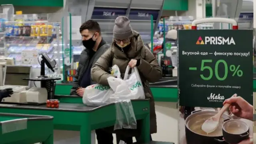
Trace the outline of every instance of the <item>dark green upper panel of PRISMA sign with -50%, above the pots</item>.
[[222, 107], [233, 94], [253, 104], [252, 30], [179, 30], [180, 106]]

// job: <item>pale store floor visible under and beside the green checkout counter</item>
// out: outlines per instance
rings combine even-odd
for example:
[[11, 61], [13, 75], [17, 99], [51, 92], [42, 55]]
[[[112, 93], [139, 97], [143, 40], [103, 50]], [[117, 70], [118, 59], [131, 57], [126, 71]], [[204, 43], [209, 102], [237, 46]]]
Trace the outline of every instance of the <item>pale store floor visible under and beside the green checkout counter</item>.
[[[176, 109], [176, 103], [156, 102], [156, 116], [158, 132], [152, 135], [153, 140], [178, 144], [178, 110]], [[79, 136], [80, 132], [76, 131], [54, 130], [54, 144], [80, 144]], [[114, 144], [116, 144], [115, 139], [114, 134]]]

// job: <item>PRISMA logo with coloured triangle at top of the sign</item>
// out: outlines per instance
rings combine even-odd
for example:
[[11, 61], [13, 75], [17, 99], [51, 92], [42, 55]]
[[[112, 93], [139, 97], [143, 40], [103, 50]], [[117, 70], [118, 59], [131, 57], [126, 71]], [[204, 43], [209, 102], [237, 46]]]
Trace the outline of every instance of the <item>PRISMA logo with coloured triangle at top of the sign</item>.
[[233, 37], [224, 38], [222, 36], [206, 36], [204, 40], [199, 36], [196, 44], [211, 44], [211, 45], [236, 45]]

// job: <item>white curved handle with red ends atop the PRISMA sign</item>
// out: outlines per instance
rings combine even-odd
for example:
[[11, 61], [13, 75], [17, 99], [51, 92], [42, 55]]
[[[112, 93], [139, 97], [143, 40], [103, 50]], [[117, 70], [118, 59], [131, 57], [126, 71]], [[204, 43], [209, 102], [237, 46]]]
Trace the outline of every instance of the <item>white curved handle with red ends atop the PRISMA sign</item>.
[[197, 24], [203, 24], [203, 23], [209, 23], [209, 22], [222, 22], [222, 23], [228, 23], [228, 24], [232, 24], [232, 29], [233, 30], [238, 30], [238, 24], [236, 22], [236, 20], [234, 19], [230, 19], [230, 18], [201, 18], [198, 20], [194, 20], [192, 22], [192, 26], [191, 29], [192, 30], [196, 30], [196, 25]]

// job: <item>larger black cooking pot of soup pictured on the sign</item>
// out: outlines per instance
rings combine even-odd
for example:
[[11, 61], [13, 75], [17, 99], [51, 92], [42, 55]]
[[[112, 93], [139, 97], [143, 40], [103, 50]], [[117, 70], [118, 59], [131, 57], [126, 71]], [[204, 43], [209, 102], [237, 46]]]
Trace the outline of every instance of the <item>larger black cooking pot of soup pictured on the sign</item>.
[[231, 119], [229, 115], [223, 114], [218, 128], [210, 133], [202, 131], [201, 127], [205, 120], [214, 116], [218, 112], [211, 110], [198, 110], [192, 112], [185, 120], [185, 132], [187, 144], [228, 144], [223, 141], [222, 124], [226, 119]]

